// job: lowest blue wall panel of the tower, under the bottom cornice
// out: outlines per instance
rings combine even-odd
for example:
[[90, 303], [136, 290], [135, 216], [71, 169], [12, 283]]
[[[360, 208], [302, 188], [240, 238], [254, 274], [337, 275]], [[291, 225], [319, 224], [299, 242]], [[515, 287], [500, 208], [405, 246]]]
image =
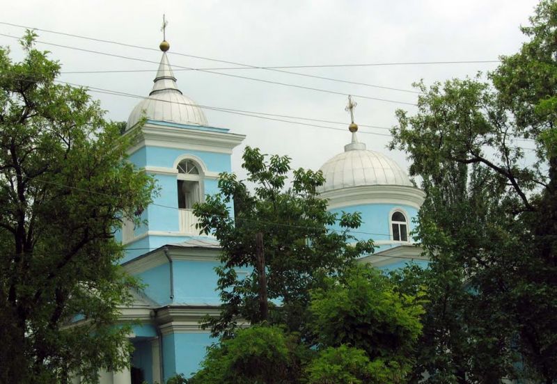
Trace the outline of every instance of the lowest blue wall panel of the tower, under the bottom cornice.
[[214, 342], [210, 333], [173, 333], [163, 336], [164, 380], [175, 374], [186, 377], [198, 371], [207, 353], [207, 346]]

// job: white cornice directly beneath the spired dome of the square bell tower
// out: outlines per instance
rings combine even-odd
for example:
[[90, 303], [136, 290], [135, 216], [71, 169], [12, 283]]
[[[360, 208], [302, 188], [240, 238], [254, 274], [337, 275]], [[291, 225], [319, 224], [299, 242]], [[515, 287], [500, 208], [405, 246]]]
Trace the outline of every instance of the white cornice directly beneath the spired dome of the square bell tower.
[[244, 138], [245, 135], [166, 127], [147, 122], [141, 128], [139, 140], [128, 153], [132, 154], [144, 146], [153, 146], [231, 154]]

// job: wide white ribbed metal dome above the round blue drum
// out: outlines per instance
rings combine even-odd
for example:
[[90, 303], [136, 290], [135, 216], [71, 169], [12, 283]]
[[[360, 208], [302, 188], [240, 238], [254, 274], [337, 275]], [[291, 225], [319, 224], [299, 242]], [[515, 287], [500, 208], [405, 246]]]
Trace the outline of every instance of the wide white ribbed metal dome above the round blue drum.
[[395, 161], [379, 152], [366, 150], [366, 145], [358, 143], [355, 135], [352, 143], [345, 145], [345, 152], [329, 159], [320, 170], [326, 180], [318, 189], [320, 193], [351, 186], [414, 186]]

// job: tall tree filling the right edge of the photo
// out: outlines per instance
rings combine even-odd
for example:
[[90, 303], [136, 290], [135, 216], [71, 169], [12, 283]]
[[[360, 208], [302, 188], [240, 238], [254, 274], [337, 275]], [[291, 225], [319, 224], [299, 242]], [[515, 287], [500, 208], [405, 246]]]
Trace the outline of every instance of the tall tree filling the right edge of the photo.
[[454, 382], [557, 379], [556, 2], [530, 20], [489, 81], [420, 83], [418, 112], [398, 111], [393, 129], [423, 179], [416, 235], [439, 288], [421, 369], [453, 365]]

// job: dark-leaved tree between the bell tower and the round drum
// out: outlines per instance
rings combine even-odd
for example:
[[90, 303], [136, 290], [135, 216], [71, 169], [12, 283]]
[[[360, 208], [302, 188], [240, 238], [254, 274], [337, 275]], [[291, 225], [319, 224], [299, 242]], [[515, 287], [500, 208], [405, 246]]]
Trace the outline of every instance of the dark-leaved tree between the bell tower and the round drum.
[[[214, 233], [222, 248], [217, 269], [222, 314], [206, 326], [214, 336], [225, 337], [242, 322], [280, 323], [290, 332], [304, 332], [309, 290], [348, 260], [372, 252], [372, 242], [350, 235], [360, 225], [359, 214], [338, 217], [327, 211], [327, 201], [316, 193], [324, 183], [322, 173], [295, 170], [292, 186], [285, 189], [288, 157], [267, 160], [258, 149], [246, 147], [243, 159], [246, 182], [222, 173], [221, 193], [194, 208], [201, 230]], [[330, 230], [336, 224], [342, 229]], [[245, 277], [238, 275], [240, 269]]]

